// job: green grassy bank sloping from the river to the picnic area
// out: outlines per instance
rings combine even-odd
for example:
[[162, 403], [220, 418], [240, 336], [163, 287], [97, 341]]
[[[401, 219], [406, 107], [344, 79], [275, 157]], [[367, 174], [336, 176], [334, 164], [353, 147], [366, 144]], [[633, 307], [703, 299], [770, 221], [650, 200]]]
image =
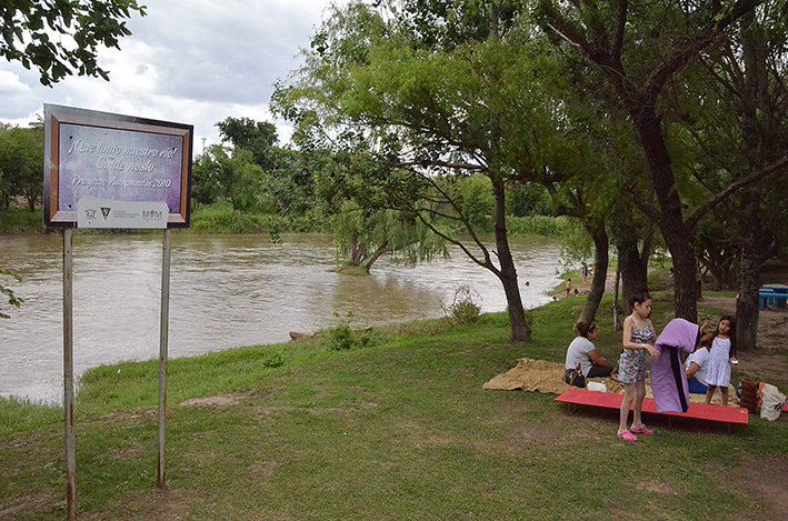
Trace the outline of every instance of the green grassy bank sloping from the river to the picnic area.
[[[607, 325], [608, 299], [598, 348], [612, 359], [620, 333]], [[786, 467], [785, 418], [752, 417], [727, 433], [651, 417], [657, 435], [630, 444], [615, 437], [615, 413], [570, 414], [551, 394], [482, 390], [519, 358], [562, 361], [581, 305], [533, 310], [528, 344], [509, 343], [497, 313], [468, 327], [380, 328], [365, 349], [329, 350], [316, 337], [171, 360], [164, 491], [156, 489], [158, 362], [88, 371], [76, 405], [79, 517], [780, 519], [737, 477], [754, 479], [762, 462]], [[656, 295], [658, 328], [670, 308]], [[64, 519], [61, 412], [0, 400], [0, 518]]]

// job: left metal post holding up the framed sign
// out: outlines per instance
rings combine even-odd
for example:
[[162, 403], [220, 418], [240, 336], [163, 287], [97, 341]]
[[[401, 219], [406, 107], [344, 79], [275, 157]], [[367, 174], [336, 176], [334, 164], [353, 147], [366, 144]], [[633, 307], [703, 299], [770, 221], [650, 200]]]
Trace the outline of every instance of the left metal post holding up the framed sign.
[[63, 230], [63, 411], [66, 412], [66, 495], [68, 520], [77, 519], [77, 462], [73, 443], [73, 230]]

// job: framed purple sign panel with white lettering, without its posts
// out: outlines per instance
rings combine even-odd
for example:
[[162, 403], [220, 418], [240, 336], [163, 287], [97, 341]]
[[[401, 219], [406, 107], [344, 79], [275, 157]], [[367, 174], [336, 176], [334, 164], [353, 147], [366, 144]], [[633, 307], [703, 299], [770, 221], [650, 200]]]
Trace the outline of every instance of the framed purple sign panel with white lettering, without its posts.
[[[192, 126], [52, 104], [44, 104], [44, 123], [48, 227], [103, 224], [80, 214], [83, 198], [116, 203], [163, 201], [167, 227], [189, 226]], [[86, 210], [91, 204], [86, 202]], [[123, 208], [139, 208], [140, 216], [144, 211], [142, 206]], [[118, 226], [99, 228], [151, 228], [142, 226], [149, 221], [128, 216], [113, 222]]]

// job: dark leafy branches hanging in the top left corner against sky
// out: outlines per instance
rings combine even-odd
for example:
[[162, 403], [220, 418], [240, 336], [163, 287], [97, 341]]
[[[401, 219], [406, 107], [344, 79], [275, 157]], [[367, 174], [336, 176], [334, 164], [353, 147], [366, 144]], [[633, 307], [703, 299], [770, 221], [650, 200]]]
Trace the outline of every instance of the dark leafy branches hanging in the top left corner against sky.
[[38, 69], [44, 86], [74, 72], [109, 80], [98, 49], [119, 49], [120, 38], [131, 34], [123, 19], [144, 9], [137, 0], [2, 1], [0, 56]]

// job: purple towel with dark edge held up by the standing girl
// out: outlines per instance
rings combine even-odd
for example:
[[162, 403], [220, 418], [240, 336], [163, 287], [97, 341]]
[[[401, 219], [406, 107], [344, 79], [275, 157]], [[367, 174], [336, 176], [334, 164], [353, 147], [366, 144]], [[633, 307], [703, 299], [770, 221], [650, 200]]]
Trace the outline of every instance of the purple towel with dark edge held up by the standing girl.
[[659, 360], [651, 361], [651, 390], [657, 412], [687, 412], [689, 391], [679, 350], [691, 353], [698, 341], [698, 325], [674, 319], [665, 327], [654, 345]]

